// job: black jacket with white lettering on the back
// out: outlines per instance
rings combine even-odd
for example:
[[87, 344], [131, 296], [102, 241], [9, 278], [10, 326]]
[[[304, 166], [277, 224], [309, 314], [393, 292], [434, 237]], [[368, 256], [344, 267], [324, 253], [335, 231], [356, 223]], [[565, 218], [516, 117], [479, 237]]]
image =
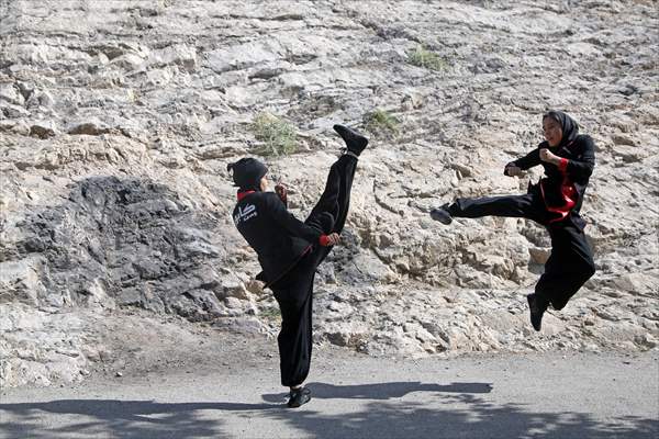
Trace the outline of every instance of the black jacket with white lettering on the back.
[[254, 192], [236, 203], [234, 224], [258, 255], [257, 279], [272, 284], [316, 245], [322, 232], [288, 212], [273, 192]]

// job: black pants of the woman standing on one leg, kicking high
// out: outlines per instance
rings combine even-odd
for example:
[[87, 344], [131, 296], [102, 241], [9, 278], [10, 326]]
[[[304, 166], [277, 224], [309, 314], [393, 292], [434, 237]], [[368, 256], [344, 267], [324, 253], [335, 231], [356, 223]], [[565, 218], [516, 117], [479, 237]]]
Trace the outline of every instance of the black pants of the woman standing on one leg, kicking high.
[[[305, 223], [323, 233], [340, 233], [350, 205], [350, 189], [357, 159], [342, 156], [327, 176], [321, 199]], [[313, 281], [319, 264], [331, 247], [315, 245], [287, 274], [271, 285], [281, 311], [281, 330], [277, 337], [281, 384], [294, 386], [306, 380], [311, 364]]]

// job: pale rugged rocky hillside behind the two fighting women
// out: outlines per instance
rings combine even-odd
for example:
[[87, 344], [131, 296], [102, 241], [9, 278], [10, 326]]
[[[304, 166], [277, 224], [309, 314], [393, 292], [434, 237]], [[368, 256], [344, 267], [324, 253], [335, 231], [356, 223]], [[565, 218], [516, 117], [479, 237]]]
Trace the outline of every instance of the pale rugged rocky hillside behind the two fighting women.
[[[657, 348], [659, 14], [543, 4], [0, 0], [2, 385], [80, 380], [172, 340], [199, 350], [199, 328], [275, 335], [226, 164], [265, 156], [302, 217], [337, 122], [372, 148], [317, 278], [321, 346]], [[546, 232], [427, 212], [523, 192], [539, 173], [502, 167], [541, 140], [550, 108], [596, 143], [582, 213], [599, 271], [538, 335], [524, 296]]]

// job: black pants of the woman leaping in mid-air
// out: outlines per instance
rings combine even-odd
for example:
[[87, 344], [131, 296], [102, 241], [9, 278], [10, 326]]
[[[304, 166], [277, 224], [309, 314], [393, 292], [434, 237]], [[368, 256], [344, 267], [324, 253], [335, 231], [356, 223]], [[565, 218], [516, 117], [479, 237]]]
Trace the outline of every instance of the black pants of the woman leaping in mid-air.
[[562, 309], [570, 297], [595, 273], [592, 250], [583, 229], [572, 213], [563, 221], [548, 223], [549, 214], [539, 192], [524, 195], [484, 196], [457, 199], [448, 207], [451, 216], [477, 218], [481, 216], [509, 216], [533, 219], [549, 232], [551, 255], [545, 263], [545, 272], [536, 283], [536, 294]]

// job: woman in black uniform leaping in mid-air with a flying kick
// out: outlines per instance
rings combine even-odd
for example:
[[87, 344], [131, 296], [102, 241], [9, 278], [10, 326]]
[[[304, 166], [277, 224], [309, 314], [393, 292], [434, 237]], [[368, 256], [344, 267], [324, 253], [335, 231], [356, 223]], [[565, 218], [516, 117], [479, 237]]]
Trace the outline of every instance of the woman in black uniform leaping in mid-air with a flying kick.
[[579, 215], [589, 178], [595, 166], [594, 144], [579, 135], [579, 125], [560, 111], [543, 115], [545, 142], [504, 168], [506, 176], [522, 176], [534, 166], [545, 168], [545, 177], [529, 184], [524, 195], [457, 199], [431, 211], [433, 219], [450, 224], [451, 218], [513, 216], [544, 225], [551, 238], [551, 255], [545, 272], [527, 295], [530, 323], [540, 330], [548, 305], [562, 309], [595, 272], [592, 250], [583, 234], [585, 222]]

